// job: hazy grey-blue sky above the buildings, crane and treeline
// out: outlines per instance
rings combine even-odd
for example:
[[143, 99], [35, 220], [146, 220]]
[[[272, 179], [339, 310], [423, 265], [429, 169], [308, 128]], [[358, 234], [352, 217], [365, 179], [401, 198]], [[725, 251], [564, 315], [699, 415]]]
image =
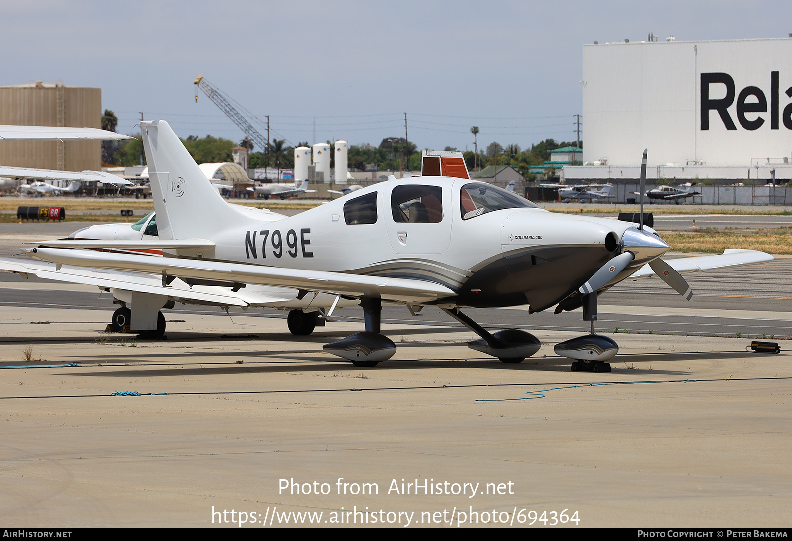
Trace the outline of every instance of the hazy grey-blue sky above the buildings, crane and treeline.
[[195, 103], [192, 81], [203, 73], [259, 119], [270, 115], [272, 137], [287, 144], [376, 146], [404, 137], [406, 112], [420, 149], [473, 149], [473, 125], [480, 148], [574, 140], [582, 46], [594, 40], [792, 32], [789, 2], [748, 0], [0, 0], [0, 13], [0, 85], [100, 87], [124, 133], [137, 131], [143, 112], [181, 137], [241, 140], [203, 93]]

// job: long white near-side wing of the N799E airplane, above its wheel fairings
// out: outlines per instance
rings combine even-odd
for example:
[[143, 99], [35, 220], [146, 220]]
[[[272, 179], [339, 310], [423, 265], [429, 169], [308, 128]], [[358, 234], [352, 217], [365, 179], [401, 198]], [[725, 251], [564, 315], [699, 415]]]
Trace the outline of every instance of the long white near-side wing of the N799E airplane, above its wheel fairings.
[[446, 286], [410, 278], [265, 267], [249, 263], [225, 263], [207, 259], [154, 258], [150, 255], [63, 250], [60, 248], [26, 248], [26, 252], [33, 259], [59, 263], [64, 266], [154, 274], [159, 279], [162, 279], [162, 276], [176, 276], [177, 278], [218, 282], [280, 286], [354, 297], [364, 295], [381, 297], [388, 301], [400, 301], [408, 304], [431, 302], [456, 295], [453, 289]]

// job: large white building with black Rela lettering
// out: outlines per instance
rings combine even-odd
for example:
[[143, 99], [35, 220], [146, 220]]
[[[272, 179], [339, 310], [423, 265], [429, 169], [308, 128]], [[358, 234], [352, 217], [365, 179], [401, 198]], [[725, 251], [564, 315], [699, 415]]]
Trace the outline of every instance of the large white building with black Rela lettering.
[[[583, 46], [583, 162], [566, 183], [792, 177], [792, 38]], [[790, 194], [792, 195], [792, 194]]]

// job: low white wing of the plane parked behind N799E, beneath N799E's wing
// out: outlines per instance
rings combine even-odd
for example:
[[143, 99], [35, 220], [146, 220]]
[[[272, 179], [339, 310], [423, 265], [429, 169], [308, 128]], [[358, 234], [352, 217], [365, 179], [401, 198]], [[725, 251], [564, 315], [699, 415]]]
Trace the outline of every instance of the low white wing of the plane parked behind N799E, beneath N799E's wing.
[[121, 289], [136, 293], [154, 293], [166, 295], [177, 302], [198, 305], [220, 306], [280, 306], [285, 301], [293, 301], [293, 297], [276, 296], [246, 291], [244, 288], [234, 292], [230, 287], [220, 286], [189, 286], [175, 278], [169, 286], [162, 286], [162, 277], [151, 274], [139, 274], [124, 271], [93, 270], [82, 267], [63, 265], [58, 270], [57, 263], [32, 261], [31, 259], [15, 259], [0, 257], [0, 272], [13, 272], [24, 278], [37, 276], [57, 282], [69, 282], [97, 286], [99, 289]]

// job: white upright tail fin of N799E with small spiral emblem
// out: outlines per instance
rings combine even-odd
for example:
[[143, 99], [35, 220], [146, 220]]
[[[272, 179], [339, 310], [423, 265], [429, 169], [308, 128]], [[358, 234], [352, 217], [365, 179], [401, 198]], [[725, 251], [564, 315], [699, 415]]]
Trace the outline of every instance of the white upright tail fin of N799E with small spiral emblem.
[[140, 122], [161, 239], [211, 239], [242, 222], [165, 120]]

